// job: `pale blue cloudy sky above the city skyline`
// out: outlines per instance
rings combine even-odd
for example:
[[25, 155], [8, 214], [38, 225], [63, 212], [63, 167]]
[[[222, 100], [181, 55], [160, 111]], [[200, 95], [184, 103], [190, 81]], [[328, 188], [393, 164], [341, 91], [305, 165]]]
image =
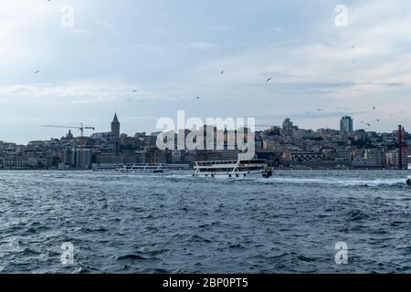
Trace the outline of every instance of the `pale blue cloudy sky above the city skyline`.
[[[348, 9], [347, 26], [335, 24], [337, 5]], [[314, 130], [338, 129], [351, 115], [355, 129], [410, 130], [408, 5], [4, 0], [0, 141], [66, 134], [44, 124], [109, 131], [114, 112], [121, 132], [152, 132], [177, 110], [204, 120], [256, 118], [258, 125], [290, 117]]]

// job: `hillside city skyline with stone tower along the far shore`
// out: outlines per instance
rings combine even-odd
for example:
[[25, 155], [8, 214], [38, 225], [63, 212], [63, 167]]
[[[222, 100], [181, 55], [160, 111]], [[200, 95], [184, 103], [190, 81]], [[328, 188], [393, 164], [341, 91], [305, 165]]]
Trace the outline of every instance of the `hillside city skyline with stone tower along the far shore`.
[[[184, 124], [182, 120], [179, 122]], [[213, 125], [214, 121], [207, 122]], [[187, 129], [172, 132], [171, 128], [163, 133], [123, 135], [117, 113], [110, 131], [94, 132], [87, 138], [74, 137], [70, 130], [83, 133], [95, 130], [93, 127], [47, 125], [44, 127], [64, 129], [68, 133], [59, 139], [30, 141], [27, 145], [0, 141], [0, 169], [97, 170], [121, 163], [171, 163], [181, 168], [198, 161], [236, 160], [239, 155], [264, 159], [279, 168], [402, 169], [408, 162], [411, 144], [409, 133], [401, 126], [390, 133], [354, 130], [353, 119], [347, 116], [342, 117], [340, 130], [300, 129], [286, 118], [281, 126], [255, 133], [247, 130], [245, 134], [232, 124], [234, 121], [215, 122], [214, 129], [204, 128], [206, 132], [200, 134], [203, 139], [198, 139], [197, 132]], [[219, 127], [226, 122], [237, 130], [223, 133]]]

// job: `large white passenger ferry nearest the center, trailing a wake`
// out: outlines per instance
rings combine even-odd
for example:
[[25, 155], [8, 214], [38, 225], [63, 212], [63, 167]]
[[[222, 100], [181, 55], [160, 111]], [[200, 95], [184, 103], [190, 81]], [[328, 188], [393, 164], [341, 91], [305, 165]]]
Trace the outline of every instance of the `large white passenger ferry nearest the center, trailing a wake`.
[[260, 176], [269, 178], [272, 176], [272, 170], [267, 167], [267, 162], [263, 160], [195, 162], [193, 176], [227, 178]]

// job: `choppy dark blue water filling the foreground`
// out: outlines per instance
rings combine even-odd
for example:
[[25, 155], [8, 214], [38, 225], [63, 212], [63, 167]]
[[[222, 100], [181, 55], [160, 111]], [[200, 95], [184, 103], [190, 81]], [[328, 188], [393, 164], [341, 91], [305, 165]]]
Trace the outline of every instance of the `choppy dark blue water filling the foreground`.
[[[406, 175], [0, 172], [0, 272], [409, 273]], [[74, 266], [61, 264], [65, 242]]]

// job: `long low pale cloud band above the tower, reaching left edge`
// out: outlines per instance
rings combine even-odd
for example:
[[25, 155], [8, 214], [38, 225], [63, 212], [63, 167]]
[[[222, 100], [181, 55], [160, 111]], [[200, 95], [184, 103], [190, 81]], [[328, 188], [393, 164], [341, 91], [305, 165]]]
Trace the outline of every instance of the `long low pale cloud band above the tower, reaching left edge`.
[[[134, 90], [137, 89], [137, 92]], [[0, 106], [29, 104], [63, 106], [89, 104], [126, 104], [130, 101], [178, 101], [193, 99], [195, 93], [186, 94], [190, 88], [184, 84], [154, 84], [138, 86], [124, 83], [70, 82], [62, 84], [13, 85], [0, 87]]]

